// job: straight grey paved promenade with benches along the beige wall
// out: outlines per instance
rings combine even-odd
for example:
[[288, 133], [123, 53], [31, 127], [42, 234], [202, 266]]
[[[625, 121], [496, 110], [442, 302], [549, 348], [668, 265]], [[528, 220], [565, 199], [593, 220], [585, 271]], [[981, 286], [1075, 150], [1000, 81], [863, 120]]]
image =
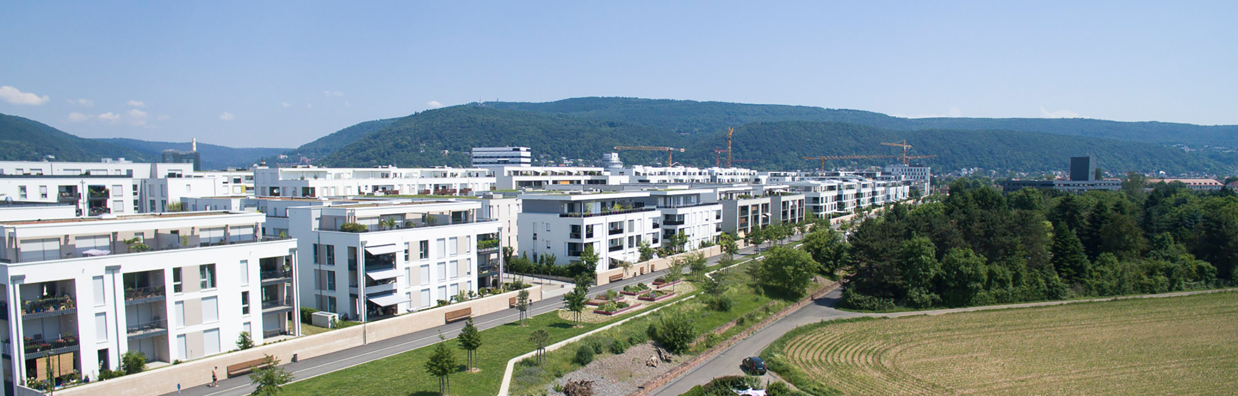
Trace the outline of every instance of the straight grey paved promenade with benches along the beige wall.
[[[800, 235], [791, 238], [791, 240], [800, 240]], [[766, 249], [769, 244], [764, 245]], [[743, 259], [743, 256], [755, 255], [753, 246], [740, 249], [737, 259]], [[709, 259], [709, 265], [717, 264], [722, 255], [713, 256]], [[654, 278], [661, 276], [661, 272], [646, 273], [643, 276], [636, 276], [626, 278], [619, 282], [607, 283], [603, 286], [594, 286], [589, 288], [591, 295], [604, 293], [608, 290], [623, 290], [624, 286], [633, 285], [636, 282], [651, 282]], [[530, 316], [537, 316], [542, 313], [553, 312], [561, 308], [563, 304], [562, 298], [550, 298], [539, 301], [529, 307]], [[489, 329], [505, 323], [515, 322], [519, 318], [520, 312], [516, 308], [508, 308], [500, 312], [484, 314], [473, 318], [473, 324], [479, 329]], [[365, 324], [359, 324], [365, 325]], [[292, 372], [295, 381], [307, 380], [318, 375], [328, 374], [332, 371], [338, 371], [348, 369], [359, 364], [368, 361], [374, 361], [386, 356], [396, 355], [404, 351], [413, 350], [426, 345], [432, 345], [438, 342], [438, 332], [442, 330], [443, 335], [447, 338], [454, 338], [459, 334], [461, 328], [464, 327], [464, 322], [449, 323], [439, 325], [432, 329], [425, 329], [416, 333], [410, 333], [395, 338], [389, 338], [380, 342], [369, 343], [366, 345], [349, 348], [345, 350], [301, 359], [297, 363], [286, 363], [281, 365], [288, 372]], [[418, 368], [420, 370], [420, 368]], [[220, 379], [219, 387], [207, 387], [206, 385], [187, 387], [180, 394], [176, 391], [176, 384], [168, 384], [168, 392], [165, 396], [183, 395], [183, 396], [241, 396], [249, 395], [254, 390], [254, 385], [250, 384], [249, 376], [238, 376], [232, 379]]]

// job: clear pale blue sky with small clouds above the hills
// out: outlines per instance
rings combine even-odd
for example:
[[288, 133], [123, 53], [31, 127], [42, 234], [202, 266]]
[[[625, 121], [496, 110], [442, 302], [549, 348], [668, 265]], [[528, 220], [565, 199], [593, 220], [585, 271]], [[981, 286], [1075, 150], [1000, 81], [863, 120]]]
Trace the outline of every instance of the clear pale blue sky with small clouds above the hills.
[[6, 1], [0, 113], [293, 147], [437, 105], [640, 97], [1238, 124], [1238, 1]]

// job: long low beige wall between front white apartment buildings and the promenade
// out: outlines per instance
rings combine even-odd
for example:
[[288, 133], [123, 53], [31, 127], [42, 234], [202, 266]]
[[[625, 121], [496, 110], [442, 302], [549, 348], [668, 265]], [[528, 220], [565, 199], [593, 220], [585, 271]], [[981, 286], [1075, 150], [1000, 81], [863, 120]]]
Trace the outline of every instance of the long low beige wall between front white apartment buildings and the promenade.
[[[541, 299], [541, 286], [526, 288], [529, 301]], [[176, 391], [176, 385], [188, 389], [192, 386], [210, 382], [210, 370], [223, 379], [228, 376], [228, 365], [262, 359], [262, 355], [272, 355], [280, 363], [288, 363], [292, 355], [297, 359], [310, 359], [340, 351], [348, 348], [360, 346], [366, 343], [379, 342], [409, 333], [415, 333], [444, 324], [446, 313], [462, 308], [473, 308], [473, 316], [508, 309], [511, 297], [519, 291], [483, 297], [447, 307], [425, 309], [415, 313], [402, 314], [395, 318], [370, 322], [365, 325], [354, 325], [344, 329], [331, 330], [314, 335], [306, 335], [255, 346], [246, 350], [236, 350], [213, 355], [198, 360], [191, 360], [177, 365], [158, 368], [150, 371], [126, 375], [119, 379], [92, 382], [56, 391], [57, 395], [67, 396], [93, 396], [93, 395], [131, 395], [155, 396]]]

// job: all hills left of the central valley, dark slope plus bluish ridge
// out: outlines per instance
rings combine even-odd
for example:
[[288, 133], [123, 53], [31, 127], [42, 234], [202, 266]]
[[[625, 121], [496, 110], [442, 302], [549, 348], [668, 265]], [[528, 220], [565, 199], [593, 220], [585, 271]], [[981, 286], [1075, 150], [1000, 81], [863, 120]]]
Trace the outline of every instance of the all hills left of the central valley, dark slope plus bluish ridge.
[[[31, 119], [0, 114], [0, 160], [4, 161], [95, 162], [100, 158], [124, 157], [139, 162], [158, 162], [161, 151], [167, 148], [187, 151], [189, 146], [189, 142], [78, 137]], [[198, 144], [204, 170], [248, 167], [258, 158], [287, 150], [234, 148]]]

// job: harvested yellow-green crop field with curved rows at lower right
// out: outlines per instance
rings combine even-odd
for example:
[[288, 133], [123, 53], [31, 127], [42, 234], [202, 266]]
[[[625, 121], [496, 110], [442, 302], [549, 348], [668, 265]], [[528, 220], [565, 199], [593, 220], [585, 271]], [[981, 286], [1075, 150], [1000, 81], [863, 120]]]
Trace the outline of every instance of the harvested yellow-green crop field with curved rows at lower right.
[[827, 322], [763, 355], [817, 395], [1234, 395], [1238, 293]]

